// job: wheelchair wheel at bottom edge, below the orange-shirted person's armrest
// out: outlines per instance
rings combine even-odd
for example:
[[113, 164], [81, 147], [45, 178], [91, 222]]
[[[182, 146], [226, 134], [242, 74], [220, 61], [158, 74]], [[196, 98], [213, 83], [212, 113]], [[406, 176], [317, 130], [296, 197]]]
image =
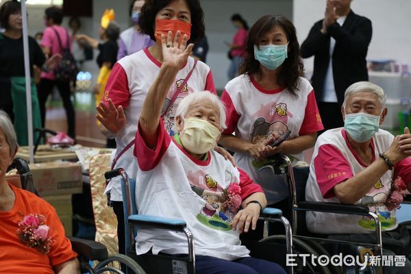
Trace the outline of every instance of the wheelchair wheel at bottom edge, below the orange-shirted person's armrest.
[[[121, 265], [123, 265], [123, 268], [125, 269], [121, 270]], [[115, 254], [99, 262], [99, 264], [95, 267], [95, 274], [101, 273], [146, 274], [144, 269], [142, 269], [135, 260], [123, 254]]]

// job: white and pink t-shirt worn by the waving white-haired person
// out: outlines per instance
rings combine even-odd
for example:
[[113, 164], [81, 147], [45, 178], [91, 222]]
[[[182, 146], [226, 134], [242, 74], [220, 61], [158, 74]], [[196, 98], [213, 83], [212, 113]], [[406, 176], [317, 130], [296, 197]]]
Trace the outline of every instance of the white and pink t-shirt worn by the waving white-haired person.
[[[171, 139], [162, 121], [158, 128], [154, 149], [145, 145], [139, 131], [136, 134], [138, 213], [186, 221], [196, 255], [225, 260], [249, 256], [230, 226], [238, 210], [233, 205], [240, 206], [262, 188], [215, 151], [208, 152], [207, 160], [192, 158]], [[238, 196], [230, 197], [239, 188]], [[139, 229], [136, 242], [137, 254], [150, 249], [154, 254], [188, 253], [186, 236], [164, 229]]]

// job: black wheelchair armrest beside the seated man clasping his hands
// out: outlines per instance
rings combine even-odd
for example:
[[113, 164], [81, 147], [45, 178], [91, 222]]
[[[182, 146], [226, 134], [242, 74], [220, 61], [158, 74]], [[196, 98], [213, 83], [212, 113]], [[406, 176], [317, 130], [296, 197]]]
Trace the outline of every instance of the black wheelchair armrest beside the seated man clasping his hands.
[[295, 210], [329, 212], [337, 214], [369, 215], [368, 206], [345, 205], [343, 203], [327, 203], [323, 201], [301, 201]]

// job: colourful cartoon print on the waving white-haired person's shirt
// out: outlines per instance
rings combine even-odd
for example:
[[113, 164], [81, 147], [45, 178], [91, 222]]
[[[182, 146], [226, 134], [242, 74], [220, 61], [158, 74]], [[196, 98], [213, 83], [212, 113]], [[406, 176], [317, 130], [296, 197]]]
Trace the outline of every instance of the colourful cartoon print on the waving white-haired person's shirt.
[[[227, 198], [229, 197], [229, 195], [227, 195], [227, 188], [223, 189], [221, 184], [216, 182], [210, 174], [199, 176], [199, 173], [201, 173], [201, 171], [188, 173], [192, 191], [205, 201], [203, 208], [201, 208], [199, 214], [197, 214], [197, 220], [203, 225], [212, 227], [213, 229], [223, 231], [232, 229], [230, 224], [232, 223], [234, 214], [230, 212], [226, 206]], [[228, 173], [228, 171], [226, 171], [226, 173]], [[233, 178], [232, 175], [231, 178]], [[241, 203], [241, 199], [238, 203]]]

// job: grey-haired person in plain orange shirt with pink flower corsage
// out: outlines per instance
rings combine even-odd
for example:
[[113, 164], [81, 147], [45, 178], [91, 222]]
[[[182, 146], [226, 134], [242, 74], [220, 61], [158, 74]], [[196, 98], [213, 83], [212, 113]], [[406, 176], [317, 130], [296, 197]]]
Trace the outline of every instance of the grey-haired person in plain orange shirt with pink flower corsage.
[[6, 181], [17, 149], [13, 125], [0, 110], [1, 273], [79, 273], [77, 254], [54, 208]]

